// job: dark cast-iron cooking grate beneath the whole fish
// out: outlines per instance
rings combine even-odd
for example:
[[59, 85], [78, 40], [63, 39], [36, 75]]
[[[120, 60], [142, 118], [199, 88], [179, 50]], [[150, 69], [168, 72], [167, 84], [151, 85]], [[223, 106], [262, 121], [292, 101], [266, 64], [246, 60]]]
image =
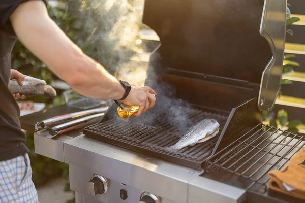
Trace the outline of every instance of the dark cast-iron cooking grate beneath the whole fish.
[[189, 118], [193, 124], [202, 119], [215, 118], [220, 123], [220, 132], [207, 142], [185, 147], [175, 154], [165, 152], [164, 148], [175, 144], [183, 133], [167, 122], [165, 115], [149, 125], [146, 125], [140, 117], [131, 117], [128, 121], [109, 119], [90, 126], [83, 133], [97, 140], [151, 157], [201, 169], [203, 161], [211, 155], [228, 116], [196, 109], [190, 113]]

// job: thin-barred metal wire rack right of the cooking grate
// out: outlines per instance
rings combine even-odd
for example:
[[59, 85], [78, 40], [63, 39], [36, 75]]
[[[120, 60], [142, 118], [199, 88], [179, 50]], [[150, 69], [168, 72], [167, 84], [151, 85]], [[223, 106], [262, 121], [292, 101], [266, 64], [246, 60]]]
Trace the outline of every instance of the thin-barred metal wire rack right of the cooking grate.
[[205, 172], [221, 168], [249, 180], [247, 189], [257, 183], [266, 192], [268, 172], [280, 170], [304, 145], [303, 136], [260, 123], [210, 157]]

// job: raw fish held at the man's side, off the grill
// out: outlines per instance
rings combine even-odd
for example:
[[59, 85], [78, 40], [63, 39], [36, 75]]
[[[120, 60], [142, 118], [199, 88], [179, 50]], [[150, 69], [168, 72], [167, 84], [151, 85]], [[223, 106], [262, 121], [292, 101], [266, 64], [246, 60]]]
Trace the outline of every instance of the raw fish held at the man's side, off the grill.
[[42, 96], [42, 97], [56, 97], [56, 91], [46, 81], [25, 76], [23, 85], [19, 85], [17, 79], [10, 80], [9, 89], [12, 94], [19, 93], [25, 96]]

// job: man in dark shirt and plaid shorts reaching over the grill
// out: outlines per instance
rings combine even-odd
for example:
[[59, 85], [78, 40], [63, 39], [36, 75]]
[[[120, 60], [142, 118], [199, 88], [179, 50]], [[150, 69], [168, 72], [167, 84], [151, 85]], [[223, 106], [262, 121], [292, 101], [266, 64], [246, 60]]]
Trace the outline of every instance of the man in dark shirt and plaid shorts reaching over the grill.
[[0, 1], [0, 202], [38, 202], [32, 182], [20, 111], [8, 89], [9, 80], [24, 75], [11, 71], [11, 51], [17, 37], [60, 79], [82, 95], [118, 99], [139, 106], [139, 116], [155, 105], [150, 87], [131, 87], [111, 76], [102, 65], [86, 56], [47, 13], [47, 0]]

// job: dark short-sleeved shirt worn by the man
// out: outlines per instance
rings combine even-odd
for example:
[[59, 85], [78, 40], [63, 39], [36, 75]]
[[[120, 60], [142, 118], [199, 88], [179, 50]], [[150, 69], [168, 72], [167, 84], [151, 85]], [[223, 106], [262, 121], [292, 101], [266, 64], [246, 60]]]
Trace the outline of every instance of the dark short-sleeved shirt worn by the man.
[[[43, 0], [47, 6], [47, 0]], [[0, 1], [0, 161], [28, 152], [26, 136], [20, 127], [20, 110], [8, 88], [11, 77], [11, 53], [17, 40], [11, 14], [26, 0]]]

